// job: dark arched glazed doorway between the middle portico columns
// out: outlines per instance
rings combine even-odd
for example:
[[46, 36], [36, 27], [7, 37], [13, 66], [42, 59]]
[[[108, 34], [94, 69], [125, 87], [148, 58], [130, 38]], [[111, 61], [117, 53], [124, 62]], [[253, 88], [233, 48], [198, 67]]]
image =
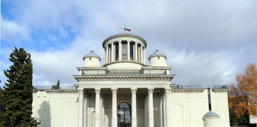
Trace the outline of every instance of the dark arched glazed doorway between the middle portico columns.
[[131, 106], [127, 102], [121, 102], [118, 109], [118, 127], [131, 127]]

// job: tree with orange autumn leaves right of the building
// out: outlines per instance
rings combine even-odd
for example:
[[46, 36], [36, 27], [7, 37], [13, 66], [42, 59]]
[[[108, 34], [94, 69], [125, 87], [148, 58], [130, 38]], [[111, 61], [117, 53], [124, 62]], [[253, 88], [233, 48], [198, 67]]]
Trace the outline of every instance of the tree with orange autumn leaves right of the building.
[[245, 117], [249, 124], [249, 116], [256, 116], [256, 65], [249, 64], [243, 73], [237, 74], [236, 82], [236, 85], [231, 85], [228, 95], [229, 107], [237, 118]]

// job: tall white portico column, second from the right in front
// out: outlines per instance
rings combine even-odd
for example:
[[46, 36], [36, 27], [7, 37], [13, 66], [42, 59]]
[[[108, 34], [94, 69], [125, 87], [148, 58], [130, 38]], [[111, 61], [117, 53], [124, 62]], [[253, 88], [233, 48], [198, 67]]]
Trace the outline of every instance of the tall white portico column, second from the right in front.
[[148, 126], [154, 127], [154, 88], [148, 88], [149, 104], [148, 104]]

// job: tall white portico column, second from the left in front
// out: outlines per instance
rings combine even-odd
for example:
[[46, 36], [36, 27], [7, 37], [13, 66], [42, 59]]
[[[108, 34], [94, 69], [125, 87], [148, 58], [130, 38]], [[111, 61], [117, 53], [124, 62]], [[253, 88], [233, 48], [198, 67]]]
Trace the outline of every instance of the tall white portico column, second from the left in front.
[[95, 88], [95, 127], [100, 127], [100, 88]]

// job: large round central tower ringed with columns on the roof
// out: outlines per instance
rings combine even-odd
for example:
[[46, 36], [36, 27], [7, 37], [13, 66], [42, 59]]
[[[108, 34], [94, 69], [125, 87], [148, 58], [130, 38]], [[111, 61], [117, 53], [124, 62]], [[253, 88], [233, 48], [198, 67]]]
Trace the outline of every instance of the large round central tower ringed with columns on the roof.
[[108, 69], [139, 70], [145, 66], [146, 41], [133, 34], [115, 34], [103, 41], [104, 65]]

